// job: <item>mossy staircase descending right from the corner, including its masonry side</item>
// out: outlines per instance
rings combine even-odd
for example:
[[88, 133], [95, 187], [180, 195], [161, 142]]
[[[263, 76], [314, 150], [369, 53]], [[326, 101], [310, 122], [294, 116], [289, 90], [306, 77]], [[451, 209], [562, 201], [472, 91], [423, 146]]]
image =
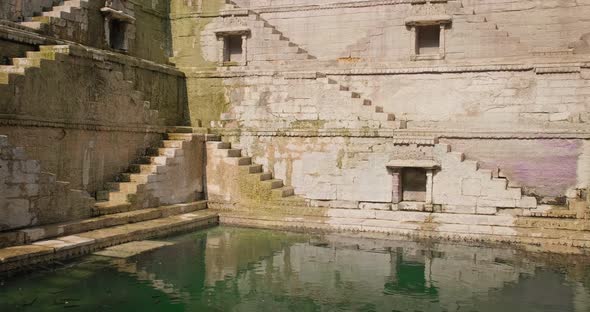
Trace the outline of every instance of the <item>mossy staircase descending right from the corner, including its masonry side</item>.
[[222, 142], [219, 136], [207, 139], [207, 152], [214, 153], [232, 166], [238, 166], [241, 195], [248, 200], [280, 200], [295, 195], [295, 189], [285, 186], [283, 180], [274, 179], [272, 172], [264, 171], [262, 165], [253, 164], [251, 157], [242, 155], [241, 149], [232, 148], [231, 143]]

